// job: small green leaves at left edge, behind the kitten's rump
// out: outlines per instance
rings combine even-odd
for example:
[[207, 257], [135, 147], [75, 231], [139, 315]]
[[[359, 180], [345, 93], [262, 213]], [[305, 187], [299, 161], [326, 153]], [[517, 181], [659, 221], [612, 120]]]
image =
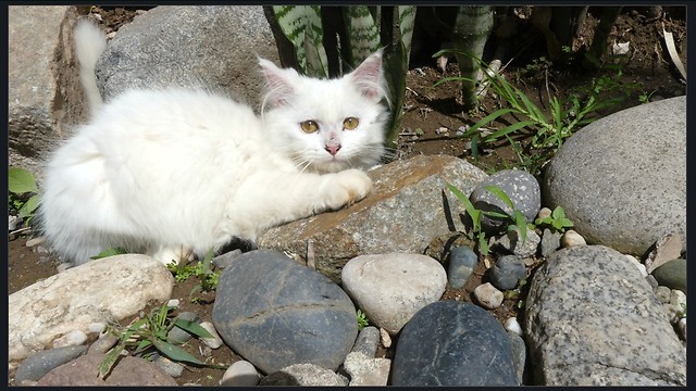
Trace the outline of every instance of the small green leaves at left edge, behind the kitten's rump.
[[39, 205], [40, 195], [34, 174], [21, 167], [8, 169], [9, 210], [25, 219], [26, 226], [32, 224], [34, 213]]

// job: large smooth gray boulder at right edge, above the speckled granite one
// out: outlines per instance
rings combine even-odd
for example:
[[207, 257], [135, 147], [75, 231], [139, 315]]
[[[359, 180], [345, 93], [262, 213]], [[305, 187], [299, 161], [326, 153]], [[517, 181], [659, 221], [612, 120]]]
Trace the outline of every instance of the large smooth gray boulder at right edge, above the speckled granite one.
[[668, 234], [685, 238], [686, 97], [587, 125], [551, 159], [542, 186], [545, 205], [561, 205], [588, 243], [643, 255]]

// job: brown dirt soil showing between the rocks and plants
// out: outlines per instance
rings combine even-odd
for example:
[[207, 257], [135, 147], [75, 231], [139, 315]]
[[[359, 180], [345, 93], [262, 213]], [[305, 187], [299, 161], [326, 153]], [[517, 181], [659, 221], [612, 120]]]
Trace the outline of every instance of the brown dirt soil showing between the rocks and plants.
[[[138, 9], [147, 8], [92, 8], [94, 14], [99, 14], [107, 31], [117, 30], [120, 26], [128, 23]], [[89, 8], [83, 8], [89, 13]], [[597, 24], [596, 10], [589, 9], [588, 15], [581, 26], [581, 33], [576, 43], [588, 45], [592, 41], [594, 26]], [[520, 88], [537, 105], [548, 112], [548, 93], [558, 96], [561, 100], [571, 92], [592, 84], [592, 80], [601, 75], [610, 74], [622, 88], [611, 93], [627, 93], [622, 104], [600, 112], [598, 115], [611, 114], [621, 109], [641, 104], [639, 96], [649, 96], [650, 100], [671, 98], [684, 94], [686, 87], [680, 81], [679, 73], [666, 50], [662, 28], [672, 31], [680, 58], [686, 64], [686, 23], [685, 8], [662, 8], [661, 13], [655, 13], [651, 8], [625, 8], [614, 24], [609, 42], [630, 42], [630, 52], [622, 60], [605, 59], [607, 65], [620, 65], [621, 75], [617, 76], [616, 70], [607, 66], [600, 71], [586, 71], [579, 66], [559, 67], [544, 61], [545, 40], [526, 20], [519, 21], [519, 31], [511, 47], [523, 48], [520, 53], [512, 53], [510, 59], [504, 61], [502, 74], [506, 79]], [[436, 45], [421, 49], [434, 53], [439, 49]], [[509, 61], [509, 62], [508, 62]], [[450, 59], [446, 67], [442, 70], [435, 59], [426, 55], [418, 61], [413, 60], [411, 70], [407, 76], [407, 94], [405, 101], [405, 114], [401, 123], [402, 136], [399, 138], [398, 149], [395, 151], [399, 159], [413, 154], [449, 154], [470, 161], [487, 173], [519, 166], [520, 159], [509, 142], [486, 146], [483, 153], [474, 159], [467, 139], [456, 137], [457, 129], [462, 126], [471, 126], [485, 115], [500, 108], [500, 100], [493, 93], [482, 99], [481, 110], [470, 113], [463, 110], [461, 104], [460, 86], [456, 83], [447, 83], [433, 88], [433, 84], [443, 77], [457, 76], [458, 67], [455, 59]], [[627, 91], [627, 92], [626, 92]], [[490, 127], [506, 126], [506, 122], [519, 121], [519, 118], [502, 118]], [[522, 135], [517, 138], [523, 146], [529, 137]], [[30, 234], [10, 235], [8, 281], [9, 293], [27, 287], [40, 279], [50, 277], [57, 273], [57, 262], [48, 254], [42, 245], [28, 248], [27, 240]], [[473, 288], [485, 282], [486, 267], [493, 263], [493, 258], [483, 260], [473, 272], [467, 286], [462, 289], [448, 287], [443, 300], [461, 300], [472, 302]], [[530, 277], [542, 260], [536, 260], [529, 267]], [[191, 302], [190, 293], [199, 281], [189, 278], [184, 282], [177, 282], [172, 298], [181, 300], [179, 312], [192, 311], [202, 319], [212, 319], [212, 301], [214, 294], [197, 293], [202, 299]], [[511, 316], [522, 317], [521, 303], [524, 300], [525, 287], [517, 291], [510, 291], [499, 308], [490, 313], [504, 323]], [[146, 310], [147, 311], [147, 310]], [[124, 325], [130, 319], [124, 319]], [[199, 343], [188, 342], [185, 345], [191, 354], [200, 357]], [[393, 356], [393, 350], [381, 346], [380, 356]], [[229, 365], [240, 357], [232, 354], [228, 349], [212, 351], [208, 357], [211, 364]], [[184, 375], [176, 379], [179, 384], [219, 386], [224, 370], [187, 365]], [[10, 378], [12, 379], [12, 374]], [[12, 382], [11, 382], [12, 384]]]

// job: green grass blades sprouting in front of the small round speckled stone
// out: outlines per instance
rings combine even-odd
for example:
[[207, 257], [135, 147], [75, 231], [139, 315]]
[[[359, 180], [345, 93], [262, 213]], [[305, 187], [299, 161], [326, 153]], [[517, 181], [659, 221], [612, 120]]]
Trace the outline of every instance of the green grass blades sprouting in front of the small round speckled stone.
[[488, 255], [488, 239], [486, 238], [486, 232], [481, 225], [481, 218], [483, 215], [504, 219], [505, 222], [507, 222], [508, 231], [517, 230], [518, 232], [520, 232], [520, 239], [522, 240], [522, 243], [526, 241], [526, 232], [530, 228], [526, 223], [526, 217], [524, 217], [524, 214], [521, 211], [514, 209], [512, 200], [510, 200], [508, 194], [502, 189], [494, 185], [484, 187], [485, 190], [489, 191], [495, 197], [505, 202], [506, 205], [510, 206], [510, 209], [512, 210], [512, 214], [478, 210], [474, 206], [474, 204], [469, 200], [467, 195], [464, 195], [459, 189], [457, 189], [457, 187], [448, 182], [447, 188], [452, 193], [455, 193], [457, 199], [459, 199], [459, 201], [464, 205], [467, 214], [469, 214], [469, 216], [471, 217], [472, 229], [469, 230], [468, 236], [469, 239], [476, 240], [476, 242], [478, 243], [478, 251], [482, 255]]

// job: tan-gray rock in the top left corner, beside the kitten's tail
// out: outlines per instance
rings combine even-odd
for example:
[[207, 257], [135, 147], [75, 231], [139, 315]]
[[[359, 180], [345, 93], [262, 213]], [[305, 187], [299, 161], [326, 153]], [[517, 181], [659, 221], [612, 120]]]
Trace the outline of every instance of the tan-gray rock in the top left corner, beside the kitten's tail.
[[86, 116], [73, 52], [75, 7], [8, 8], [10, 165], [40, 177], [52, 140]]

